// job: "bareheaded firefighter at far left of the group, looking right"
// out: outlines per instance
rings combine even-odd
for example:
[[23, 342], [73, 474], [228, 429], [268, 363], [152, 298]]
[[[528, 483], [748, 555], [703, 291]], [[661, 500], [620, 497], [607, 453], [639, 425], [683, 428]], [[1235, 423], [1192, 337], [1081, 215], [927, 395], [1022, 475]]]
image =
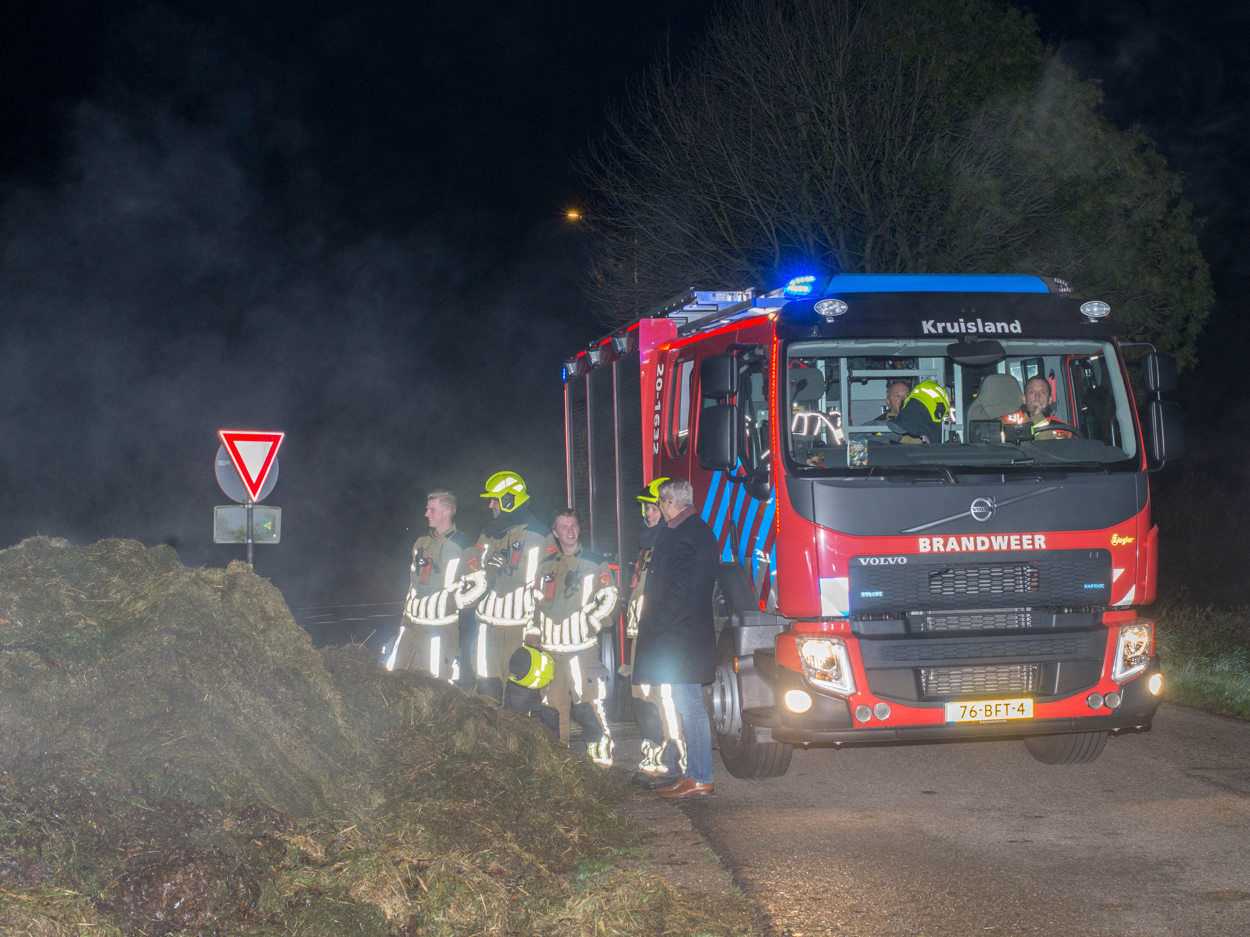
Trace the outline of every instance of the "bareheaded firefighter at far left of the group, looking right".
[[390, 670], [420, 667], [451, 682], [461, 678], [460, 610], [480, 596], [465, 577], [480, 565], [472, 540], [456, 530], [455, 515], [456, 496], [450, 491], [436, 488], [425, 496], [430, 532], [412, 545], [411, 581]]

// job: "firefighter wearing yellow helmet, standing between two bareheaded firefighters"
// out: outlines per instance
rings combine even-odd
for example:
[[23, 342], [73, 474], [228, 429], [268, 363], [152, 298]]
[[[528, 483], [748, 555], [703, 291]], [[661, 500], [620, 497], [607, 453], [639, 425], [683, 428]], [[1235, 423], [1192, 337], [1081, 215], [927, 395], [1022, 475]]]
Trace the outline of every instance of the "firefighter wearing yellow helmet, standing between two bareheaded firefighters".
[[495, 516], [478, 538], [481, 568], [474, 573], [478, 603], [478, 692], [504, 708], [530, 711], [530, 691], [509, 680], [509, 660], [524, 642], [534, 617], [534, 590], [539, 562], [549, 547], [550, 530], [526, 501], [525, 482], [516, 472], [495, 472], [481, 497]]

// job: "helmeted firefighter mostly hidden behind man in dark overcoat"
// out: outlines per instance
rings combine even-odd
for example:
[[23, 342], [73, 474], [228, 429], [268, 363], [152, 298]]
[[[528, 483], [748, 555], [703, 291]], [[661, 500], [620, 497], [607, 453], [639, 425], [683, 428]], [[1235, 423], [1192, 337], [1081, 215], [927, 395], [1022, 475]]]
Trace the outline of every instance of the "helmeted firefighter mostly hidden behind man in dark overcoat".
[[[630, 581], [630, 598], [625, 612], [625, 635], [630, 638], [632, 661], [638, 653], [638, 622], [642, 616], [642, 590], [646, 587], [646, 571], [651, 562], [655, 538], [664, 530], [660, 513], [659, 487], [668, 478], [655, 478], [636, 496], [642, 510], [642, 530], [638, 536], [639, 557]], [[620, 667], [621, 676], [632, 673], [632, 665]], [[638, 686], [631, 683], [634, 696], [634, 721], [642, 736], [642, 760], [631, 778], [635, 785], [646, 790], [664, 787], [680, 777], [685, 771], [685, 738], [681, 735], [681, 720], [672, 708], [672, 695], [668, 687]]]

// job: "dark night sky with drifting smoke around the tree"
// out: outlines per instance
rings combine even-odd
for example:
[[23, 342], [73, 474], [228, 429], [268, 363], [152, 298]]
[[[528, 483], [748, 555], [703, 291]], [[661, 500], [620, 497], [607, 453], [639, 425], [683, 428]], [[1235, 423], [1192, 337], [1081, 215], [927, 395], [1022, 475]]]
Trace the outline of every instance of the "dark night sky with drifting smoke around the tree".
[[[239, 557], [211, 542], [224, 426], [288, 432], [268, 498], [282, 543], [256, 548], [256, 571], [298, 608], [401, 598], [430, 487], [460, 493], [474, 535], [499, 468], [541, 512], [561, 505], [560, 361], [602, 331], [564, 219], [580, 205], [571, 160], [714, 7], [10, 10], [0, 543], [122, 536], [188, 563]], [[1204, 219], [1219, 307], [1184, 397], [1190, 471], [1220, 461], [1229, 427], [1250, 430], [1244, 405], [1218, 404], [1248, 349], [1250, 14], [1032, 9]]]

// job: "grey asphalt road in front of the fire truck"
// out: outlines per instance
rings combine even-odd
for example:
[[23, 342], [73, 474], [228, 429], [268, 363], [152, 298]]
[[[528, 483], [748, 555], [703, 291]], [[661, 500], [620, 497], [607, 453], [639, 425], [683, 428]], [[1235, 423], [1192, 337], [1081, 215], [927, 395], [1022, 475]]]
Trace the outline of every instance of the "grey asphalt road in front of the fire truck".
[[1250, 722], [1164, 706], [1092, 765], [811, 748], [685, 812], [776, 935], [1250, 935]]

